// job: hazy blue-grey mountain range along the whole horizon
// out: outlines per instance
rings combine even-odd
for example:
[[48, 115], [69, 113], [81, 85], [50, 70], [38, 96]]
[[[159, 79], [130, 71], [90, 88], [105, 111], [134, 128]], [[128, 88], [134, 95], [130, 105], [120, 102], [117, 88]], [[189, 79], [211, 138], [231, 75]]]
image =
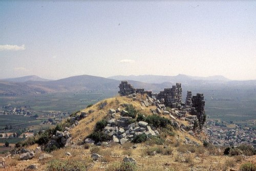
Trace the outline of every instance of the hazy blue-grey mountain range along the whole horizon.
[[193, 77], [179, 74], [177, 76], [131, 75], [109, 78], [80, 75], [59, 80], [47, 80], [38, 76], [25, 76], [0, 80], [0, 95], [19, 95], [51, 92], [77, 92], [86, 90], [116, 90], [120, 80], [127, 80], [134, 88], [144, 88], [155, 92], [172, 87], [181, 82], [186, 88], [207, 85], [256, 86], [256, 80], [233, 81], [223, 76]]

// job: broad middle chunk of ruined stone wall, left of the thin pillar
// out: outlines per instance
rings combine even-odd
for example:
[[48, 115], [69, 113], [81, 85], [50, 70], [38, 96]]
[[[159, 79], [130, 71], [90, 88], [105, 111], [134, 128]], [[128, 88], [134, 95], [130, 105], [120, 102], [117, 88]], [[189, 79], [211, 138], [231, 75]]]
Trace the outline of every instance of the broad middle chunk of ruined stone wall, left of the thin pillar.
[[170, 108], [181, 108], [181, 93], [181, 83], [176, 83], [176, 86], [173, 86], [172, 88], [165, 88], [156, 98], [158, 100], [164, 99], [165, 106]]

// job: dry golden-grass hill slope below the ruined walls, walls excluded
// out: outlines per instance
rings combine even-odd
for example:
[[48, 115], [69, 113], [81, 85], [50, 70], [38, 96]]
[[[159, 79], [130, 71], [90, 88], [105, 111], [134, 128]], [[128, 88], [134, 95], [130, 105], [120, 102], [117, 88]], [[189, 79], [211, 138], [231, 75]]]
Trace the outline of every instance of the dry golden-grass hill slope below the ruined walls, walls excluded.
[[[32, 159], [22, 161], [16, 161], [11, 156], [6, 157], [7, 169], [14, 169], [15, 167], [23, 170], [32, 167], [30, 165], [33, 164], [39, 170], [72, 170], [74, 168], [76, 170], [127, 170], [127, 168], [130, 168], [129, 170], [238, 170], [240, 165], [246, 161], [255, 162], [256, 156], [246, 158], [223, 156], [224, 148], [219, 149], [210, 144], [204, 147], [201, 140], [205, 140], [207, 137], [203, 133], [197, 134], [194, 132], [192, 134], [177, 126], [173, 127], [172, 124], [167, 124], [167, 126], [159, 124], [161, 126], [157, 126], [158, 122], [151, 122], [148, 125], [151, 126], [152, 130], [155, 130], [155, 133], [157, 130], [159, 136], [149, 136], [145, 142], [142, 141], [141, 143], [130, 143], [128, 141], [121, 143], [120, 138], [127, 136], [126, 134], [131, 134], [131, 132], [134, 132], [135, 137], [151, 132], [147, 131], [148, 127], [138, 123], [138, 120], [143, 118], [139, 114], [143, 114], [145, 117], [154, 116], [152, 111], [156, 109], [156, 106], [152, 104], [148, 107], [142, 106], [141, 101], [143, 100], [146, 100], [145, 96], [140, 95], [136, 95], [136, 100], [132, 97], [113, 97], [102, 100], [80, 113], [73, 114], [67, 121], [58, 125], [58, 129], [56, 127], [52, 131], [46, 131], [34, 140], [40, 143], [43, 149], [54, 143], [65, 142], [65, 146], [63, 145], [60, 149], [56, 149], [55, 146], [55, 151], [49, 154], [40, 152], [39, 147], [37, 147], [38, 144], [25, 146], [26, 149], [30, 150], [28, 154], [37, 149], [36, 155], [32, 156]], [[127, 106], [130, 107], [127, 108]], [[111, 109], [116, 110], [112, 111]], [[138, 112], [137, 121], [130, 120], [132, 121], [129, 121], [130, 128], [129, 126], [126, 128], [116, 125], [117, 123], [113, 119], [120, 122], [118, 119], [124, 115], [124, 112], [121, 112], [122, 110], [131, 112], [133, 109]], [[170, 110], [169, 112], [174, 115], [175, 111]], [[171, 119], [180, 126], [182, 124], [188, 125], [188, 121], [175, 118], [175, 116], [170, 117], [166, 114], [155, 116]], [[150, 122], [150, 120], [148, 121]], [[135, 122], [134, 128], [132, 128], [133, 122]], [[111, 132], [111, 129], [115, 129], [115, 131]], [[66, 131], [59, 132], [64, 130]], [[97, 143], [100, 146], [86, 143], [89, 141], [87, 137], [96, 132], [103, 133], [94, 134], [96, 136], [101, 135], [99, 138], [113, 133], [117, 139], [112, 136], [110, 141]], [[46, 135], [50, 136], [50, 141]], [[64, 141], [68, 137], [71, 137], [69, 141]], [[42, 141], [49, 142], [45, 146]], [[118, 141], [120, 142], [118, 143]], [[33, 139], [29, 142], [33, 144]], [[27, 154], [24, 148], [17, 152], [23, 153], [19, 157]], [[123, 160], [129, 163], [125, 163]], [[126, 169], [121, 169], [123, 167]]]

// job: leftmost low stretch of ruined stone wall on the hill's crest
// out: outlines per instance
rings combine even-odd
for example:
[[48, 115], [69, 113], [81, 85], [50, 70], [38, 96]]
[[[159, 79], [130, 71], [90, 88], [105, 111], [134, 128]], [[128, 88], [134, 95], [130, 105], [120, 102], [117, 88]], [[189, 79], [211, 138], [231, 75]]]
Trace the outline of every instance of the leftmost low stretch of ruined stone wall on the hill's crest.
[[133, 88], [127, 81], [121, 81], [119, 84], [120, 91], [118, 92], [121, 96], [128, 96], [133, 93], [147, 94], [152, 97], [152, 91], [145, 91], [144, 89]]

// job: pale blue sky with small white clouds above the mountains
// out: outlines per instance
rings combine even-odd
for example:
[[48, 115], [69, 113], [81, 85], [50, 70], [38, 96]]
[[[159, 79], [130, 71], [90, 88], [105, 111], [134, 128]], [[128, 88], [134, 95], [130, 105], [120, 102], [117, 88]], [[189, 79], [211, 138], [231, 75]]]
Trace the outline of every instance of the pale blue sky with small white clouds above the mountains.
[[0, 79], [256, 79], [256, 1], [0, 1]]

